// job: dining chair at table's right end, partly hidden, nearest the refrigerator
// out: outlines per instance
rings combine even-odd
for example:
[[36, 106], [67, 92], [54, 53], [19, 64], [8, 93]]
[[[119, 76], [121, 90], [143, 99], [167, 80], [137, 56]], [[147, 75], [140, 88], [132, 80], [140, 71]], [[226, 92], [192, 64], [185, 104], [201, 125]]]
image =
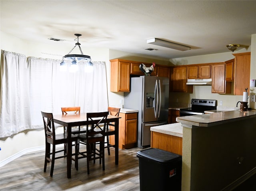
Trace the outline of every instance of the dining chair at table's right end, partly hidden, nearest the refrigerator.
[[[116, 108], [116, 107], [108, 107], [108, 112], [109, 115], [113, 115], [113, 116], [119, 116], [119, 112], [120, 112], [120, 108]], [[115, 147], [115, 145], [111, 145], [109, 142], [109, 136], [110, 135], [114, 135], [115, 134], [115, 129], [110, 128], [110, 127], [115, 127], [115, 125], [113, 123], [107, 123], [107, 127], [106, 127], [106, 132], [105, 132], [105, 137], [106, 137], [106, 142], [105, 142], [105, 148], [108, 149], [108, 155], [110, 155], [110, 147]]]

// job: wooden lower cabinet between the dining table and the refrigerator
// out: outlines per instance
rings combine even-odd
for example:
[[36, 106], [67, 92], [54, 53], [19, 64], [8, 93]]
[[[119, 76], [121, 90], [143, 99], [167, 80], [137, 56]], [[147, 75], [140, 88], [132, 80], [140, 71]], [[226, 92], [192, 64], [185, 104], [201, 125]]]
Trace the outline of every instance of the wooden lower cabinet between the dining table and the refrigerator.
[[[138, 113], [119, 113], [119, 143], [120, 149], [130, 149], [137, 143]], [[114, 144], [114, 135], [110, 136], [110, 144]]]

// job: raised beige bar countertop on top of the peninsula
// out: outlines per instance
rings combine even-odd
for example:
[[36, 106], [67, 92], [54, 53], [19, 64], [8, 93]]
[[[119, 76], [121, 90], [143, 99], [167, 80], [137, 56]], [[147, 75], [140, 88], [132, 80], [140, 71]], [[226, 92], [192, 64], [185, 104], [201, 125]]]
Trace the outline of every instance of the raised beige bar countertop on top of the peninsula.
[[176, 120], [182, 123], [183, 127], [198, 126], [210, 127], [218, 124], [229, 123], [231, 121], [238, 121], [246, 118], [256, 118], [256, 111], [224, 111], [216, 113], [208, 113], [205, 115], [191, 115], [185, 117], [177, 117]]

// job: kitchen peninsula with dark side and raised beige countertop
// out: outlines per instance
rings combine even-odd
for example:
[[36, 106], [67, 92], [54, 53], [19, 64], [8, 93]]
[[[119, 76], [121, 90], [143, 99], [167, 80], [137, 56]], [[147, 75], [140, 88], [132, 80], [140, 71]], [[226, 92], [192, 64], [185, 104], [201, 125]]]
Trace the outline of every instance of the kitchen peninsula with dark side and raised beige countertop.
[[177, 121], [183, 127], [182, 191], [228, 191], [256, 173], [256, 111], [191, 115]]

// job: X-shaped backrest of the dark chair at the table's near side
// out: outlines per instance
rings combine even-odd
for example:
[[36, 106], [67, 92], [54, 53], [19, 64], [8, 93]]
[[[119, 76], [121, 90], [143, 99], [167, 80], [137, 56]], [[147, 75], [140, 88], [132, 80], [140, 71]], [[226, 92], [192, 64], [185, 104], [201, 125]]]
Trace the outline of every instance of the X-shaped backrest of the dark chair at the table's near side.
[[108, 117], [108, 111], [98, 113], [86, 113], [87, 121], [93, 121], [92, 125], [86, 125], [86, 137], [96, 134], [104, 135], [106, 130], [106, 119]]

